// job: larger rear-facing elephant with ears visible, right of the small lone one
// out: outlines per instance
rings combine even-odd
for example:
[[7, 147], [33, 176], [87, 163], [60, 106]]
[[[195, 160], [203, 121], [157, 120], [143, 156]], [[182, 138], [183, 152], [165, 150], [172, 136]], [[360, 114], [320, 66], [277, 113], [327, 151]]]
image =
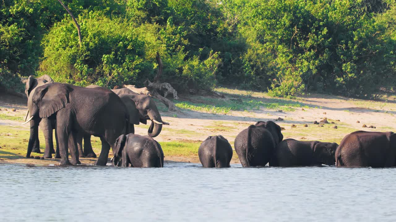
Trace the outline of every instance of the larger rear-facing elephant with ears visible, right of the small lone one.
[[242, 130], [234, 141], [242, 167], [265, 166], [282, 139], [280, 126], [272, 121], [259, 121]]

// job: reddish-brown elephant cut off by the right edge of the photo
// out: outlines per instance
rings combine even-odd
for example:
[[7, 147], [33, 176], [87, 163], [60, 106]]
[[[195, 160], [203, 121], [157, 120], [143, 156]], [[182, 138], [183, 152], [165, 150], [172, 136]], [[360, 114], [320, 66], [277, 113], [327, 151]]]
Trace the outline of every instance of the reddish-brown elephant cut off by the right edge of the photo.
[[356, 131], [346, 135], [335, 151], [336, 166], [396, 166], [396, 134]]

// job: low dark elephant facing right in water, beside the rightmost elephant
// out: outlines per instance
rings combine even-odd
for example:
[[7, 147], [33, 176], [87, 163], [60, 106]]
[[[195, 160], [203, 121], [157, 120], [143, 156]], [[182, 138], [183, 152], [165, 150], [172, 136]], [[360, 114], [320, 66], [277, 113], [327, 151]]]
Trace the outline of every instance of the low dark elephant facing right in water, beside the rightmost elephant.
[[337, 143], [285, 139], [276, 147], [270, 166], [322, 166], [335, 164]]

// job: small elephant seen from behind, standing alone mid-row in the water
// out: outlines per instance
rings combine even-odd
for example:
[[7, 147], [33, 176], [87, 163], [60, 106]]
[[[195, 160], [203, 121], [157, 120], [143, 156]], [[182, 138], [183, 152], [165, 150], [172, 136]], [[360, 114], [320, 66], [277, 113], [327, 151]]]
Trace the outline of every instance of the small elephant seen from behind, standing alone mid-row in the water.
[[209, 136], [200, 145], [198, 156], [203, 167], [230, 167], [232, 148], [223, 136]]

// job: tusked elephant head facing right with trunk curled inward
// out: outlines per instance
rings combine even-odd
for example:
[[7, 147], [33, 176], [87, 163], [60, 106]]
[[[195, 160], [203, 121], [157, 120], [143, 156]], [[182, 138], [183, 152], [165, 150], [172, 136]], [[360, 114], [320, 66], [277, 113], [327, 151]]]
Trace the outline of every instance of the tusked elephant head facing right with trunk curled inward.
[[150, 137], [156, 137], [162, 130], [162, 122], [160, 112], [157, 109], [157, 105], [154, 99], [147, 95], [131, 95], [135, 101], [136, 108], [139, 110], [139, 121], [143, 124], [147, 124], [147, 120], [151, 120], [150, 127], [148, 128], [148, 135]]

